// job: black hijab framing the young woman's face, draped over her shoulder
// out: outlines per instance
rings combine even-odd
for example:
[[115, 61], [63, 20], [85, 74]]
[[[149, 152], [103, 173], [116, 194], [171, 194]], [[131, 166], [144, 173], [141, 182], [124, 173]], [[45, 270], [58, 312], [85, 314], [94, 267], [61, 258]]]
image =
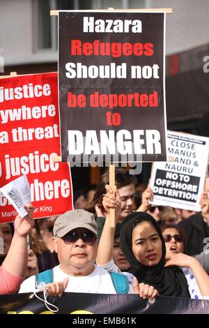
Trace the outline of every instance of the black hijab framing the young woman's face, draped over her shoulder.
[[[141, 264], [132, 252], [132, 230], [133, 224], [137, 219], [141, 219], [140, 223], [146, 221], [153, 225], [162, 241], [162, 258], [153, 267]], [[190, 298], [187, 279], [182, 269], [176, 266], [164, 267], [166, 247], [160, 225], [158, 225], [153, 216], [144, 212], [135, 212], [127, 216], [121, 227], [120, 239], [121, 250], [131, 265], [130, 272], [137, 277], [139, 283], [153, 285], [160, 295]]]

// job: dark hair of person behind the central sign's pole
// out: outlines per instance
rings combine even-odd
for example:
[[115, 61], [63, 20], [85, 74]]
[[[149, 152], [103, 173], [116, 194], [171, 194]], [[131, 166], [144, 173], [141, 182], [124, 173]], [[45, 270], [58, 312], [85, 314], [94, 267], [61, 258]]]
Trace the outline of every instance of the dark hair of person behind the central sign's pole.
[[[129, 174], [128, 171], [125, 171], [123, 167], [116, 167], [115, 177], [115, 185], [117, 189], [128, 186], [129, 184], [134, 184], [134, 186], [137, 184], [137, 178], [134, 175]], [[98, 181], [98, 188], [95, 192], [95, 195], [93, 196], [94, 207], [96, 204], [102, 207], [102, 197], [104, 193], [106, 193], [106, 184], [109, 184], [109, 169], [104, 174], [102, 174], [100, 180]]]

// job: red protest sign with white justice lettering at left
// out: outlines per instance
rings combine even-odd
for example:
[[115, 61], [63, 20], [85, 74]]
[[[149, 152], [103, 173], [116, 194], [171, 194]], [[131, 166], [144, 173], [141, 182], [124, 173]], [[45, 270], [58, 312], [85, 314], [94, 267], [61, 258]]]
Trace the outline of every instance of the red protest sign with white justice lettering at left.
[[[24, 75], [0, 81], [1, 186], [26, 174], [34, 218], [72, 209], [72, 183], [60, 155], [57, 73]], [[16, 211], [0, 193], [0, 223]]]

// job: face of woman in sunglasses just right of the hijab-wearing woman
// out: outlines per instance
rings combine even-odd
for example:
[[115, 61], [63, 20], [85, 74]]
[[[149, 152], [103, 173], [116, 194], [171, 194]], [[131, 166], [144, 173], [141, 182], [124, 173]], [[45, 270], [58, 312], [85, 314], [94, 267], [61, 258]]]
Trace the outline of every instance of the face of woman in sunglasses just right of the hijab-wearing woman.
[[166, 260], [169, 260], [169, 258], [172, 255], [178, 254], [178, 253], [183, 253], [184, 251], [184, 244], [183, 241], [176, 241], [176, 239], [173, 236], [178, 236], [177, 239], [180, 236], [180, 233], [178, 232], [178, 230], [176, 228], [167, 228], [165, 230], [163, 230], [162, 235], [165, 234], [169, 234], [171, 235], [171, 240], [170, 241], [166, 241], [167, 239], [165, 239], [166, 241], [166, 249], [167, 249], [167, 253], [166, 253]]

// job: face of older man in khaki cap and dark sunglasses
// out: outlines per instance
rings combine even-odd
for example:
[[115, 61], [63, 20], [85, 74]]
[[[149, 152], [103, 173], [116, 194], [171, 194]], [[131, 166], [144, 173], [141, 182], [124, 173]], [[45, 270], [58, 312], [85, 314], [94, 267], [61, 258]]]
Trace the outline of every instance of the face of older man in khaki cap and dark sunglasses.
[[[65, 240], [65, 236], [68, 234], [79, 234], [78, 239], [74, 243], [68, 244], [68, 239]], [[94, 262], [97, 255], [98, 245], [95, 242], [92, 245], [88, 245], [82, 237], [93, 232], [86, 228], [74, 229], [62, 238], [54, 237], [54, 248], [58, 253], [61, 269], [67, 274], [75, 276], [87, 276], [93, 272], [95, 268]]]

